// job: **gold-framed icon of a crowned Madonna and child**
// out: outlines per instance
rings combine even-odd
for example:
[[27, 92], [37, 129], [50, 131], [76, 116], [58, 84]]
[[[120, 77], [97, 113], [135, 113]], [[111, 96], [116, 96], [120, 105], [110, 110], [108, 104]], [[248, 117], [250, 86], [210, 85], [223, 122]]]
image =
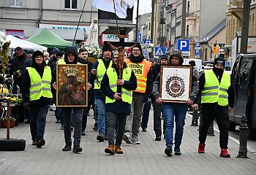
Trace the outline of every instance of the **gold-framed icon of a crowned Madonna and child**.
[[57, 106], [87, 106], [87, 65], [57, 65]]

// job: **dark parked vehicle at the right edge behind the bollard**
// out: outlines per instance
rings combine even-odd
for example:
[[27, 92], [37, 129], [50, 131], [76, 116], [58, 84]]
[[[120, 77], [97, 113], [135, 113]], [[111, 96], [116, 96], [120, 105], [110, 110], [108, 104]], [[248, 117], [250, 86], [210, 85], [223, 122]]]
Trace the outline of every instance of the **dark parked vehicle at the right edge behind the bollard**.
[[230, 112], [229, 130], [234, 131], [246, 114], [248, 139], [256, 139], [256, 54], [238, 55], [231, 73], [235, 106]]

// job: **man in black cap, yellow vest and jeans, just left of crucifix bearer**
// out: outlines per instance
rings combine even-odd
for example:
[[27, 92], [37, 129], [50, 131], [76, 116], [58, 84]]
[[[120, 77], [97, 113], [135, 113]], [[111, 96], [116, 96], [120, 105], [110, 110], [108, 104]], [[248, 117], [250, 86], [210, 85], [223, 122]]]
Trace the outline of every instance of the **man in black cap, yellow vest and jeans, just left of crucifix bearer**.
[[106, 135], [106, 112], [105, 112], [105, 95], [103, 95], [100, 90], [100, 85], [102, 82], [102, 78], [108, 69], [109, 66], [112, 65], [112, 48], [109, 44], [105, 44], [102, 48], [102, 58], [94, 62], [94, 66], [91, 68], [91, 73], [89, 75], [89, 82], [94, 83], [94, 97], [95, 97], [95, 105], [97, 108], [97, 121], [98, 121], [98, 141], [104, 141], [107, 137]]

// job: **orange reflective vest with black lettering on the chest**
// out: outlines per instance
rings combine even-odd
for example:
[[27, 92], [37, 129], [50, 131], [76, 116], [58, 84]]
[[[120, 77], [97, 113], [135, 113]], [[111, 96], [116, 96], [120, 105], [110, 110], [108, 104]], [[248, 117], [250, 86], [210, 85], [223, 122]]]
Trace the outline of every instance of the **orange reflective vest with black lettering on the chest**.
[[124, 59], [127, 63], [127, 67], [132, 69], [137, 78], [137, 88], [135, 92], [146, 93], [146, 82], [148, 77], [148, 71], [151, 69], [151, 63], [143, 60], [141, 63], [132, 63], [129, 59]]

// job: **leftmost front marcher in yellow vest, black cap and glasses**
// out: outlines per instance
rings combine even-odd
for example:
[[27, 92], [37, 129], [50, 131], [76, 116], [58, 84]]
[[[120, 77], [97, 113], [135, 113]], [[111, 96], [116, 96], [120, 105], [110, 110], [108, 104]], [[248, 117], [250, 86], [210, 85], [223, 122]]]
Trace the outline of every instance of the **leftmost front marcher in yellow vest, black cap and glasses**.
[[23, 106], [29, 108], [32, 145], [42, 147], [45, 145], [45, 120], [53, 98], [50, 90], [52, 76], [41, 51], [34, 52], [32, 61], [23, 75]]

